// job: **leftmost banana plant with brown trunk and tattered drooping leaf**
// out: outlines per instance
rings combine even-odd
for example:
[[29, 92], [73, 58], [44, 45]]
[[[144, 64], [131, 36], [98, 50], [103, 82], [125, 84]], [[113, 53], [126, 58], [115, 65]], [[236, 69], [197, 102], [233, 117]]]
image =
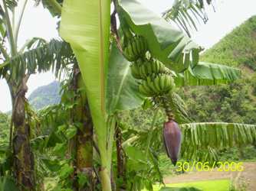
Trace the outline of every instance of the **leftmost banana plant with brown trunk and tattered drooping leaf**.
[[[0, 77], [8, 83], [12, 101], [10, 125], [10, 150], [12, 149], [13, 174], [19, 189], [34, 190], [34, 160], [30, 146], [31, 127], [28, 115], [29, 77], [32, 73], [60, 70], [72, 60], [68, 44], [59, 40], [50, 43], [41, 38], [32, 38], [18, 48], [18, 34], [27, 5], [21, 1], [21, 11], [17, 12], [18, 2], [4, 0], [0, 5]], [[18, 17], [16, 15], [18, 13]]]

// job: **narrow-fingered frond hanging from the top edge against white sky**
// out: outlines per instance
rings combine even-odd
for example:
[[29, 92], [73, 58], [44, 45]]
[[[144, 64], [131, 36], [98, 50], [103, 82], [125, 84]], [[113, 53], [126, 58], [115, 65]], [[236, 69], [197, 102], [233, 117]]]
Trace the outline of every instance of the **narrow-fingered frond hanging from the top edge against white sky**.
[[197, 24], [200, 21], [203, 23], [208, 21], [206, 5], [212, 5], [214, 9], [212, 0], [176, 0], [172, 8], [166, 10], [162, 16], [167, 21], [174, 21], [190, 37], [190, 31], [197, 31]]

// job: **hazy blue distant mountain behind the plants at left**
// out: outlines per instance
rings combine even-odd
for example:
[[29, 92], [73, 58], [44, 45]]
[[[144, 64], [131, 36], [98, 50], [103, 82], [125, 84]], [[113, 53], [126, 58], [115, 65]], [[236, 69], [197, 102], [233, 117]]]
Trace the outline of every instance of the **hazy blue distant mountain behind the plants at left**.
[[61, 101], [60, 83], [54, 81], [46, 86], [38, 87], [28, 97], [28, 102], [34, 109], [41, 109], [48, 105], [54, 105]]

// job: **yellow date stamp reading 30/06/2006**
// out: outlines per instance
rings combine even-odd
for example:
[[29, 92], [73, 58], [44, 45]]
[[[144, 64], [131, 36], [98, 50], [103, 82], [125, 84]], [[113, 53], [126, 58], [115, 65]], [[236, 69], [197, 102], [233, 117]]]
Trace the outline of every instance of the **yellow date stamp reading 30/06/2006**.
[[241, 172], [244, 170], [244, 166], [242, 162], [228, 162], [228, 161], [214, 161], [213, 163], [209, 162], [177, 162], [177, 172], [192, 172], [194, 170], [196, 171], [213, 171], [217, 170], [218, 172]]

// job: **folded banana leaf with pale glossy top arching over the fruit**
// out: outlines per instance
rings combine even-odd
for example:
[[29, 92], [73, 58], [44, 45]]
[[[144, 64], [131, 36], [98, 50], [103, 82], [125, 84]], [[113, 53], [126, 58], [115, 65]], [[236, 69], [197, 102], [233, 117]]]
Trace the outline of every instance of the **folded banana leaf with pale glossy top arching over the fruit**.
[[120, 0], [119, 5], [120, 20], [126, 21], [136, 34], [146, 38], [153, 57], [177, 73], [198, 63], [201, 47], [182, 31], [136, 0]]

